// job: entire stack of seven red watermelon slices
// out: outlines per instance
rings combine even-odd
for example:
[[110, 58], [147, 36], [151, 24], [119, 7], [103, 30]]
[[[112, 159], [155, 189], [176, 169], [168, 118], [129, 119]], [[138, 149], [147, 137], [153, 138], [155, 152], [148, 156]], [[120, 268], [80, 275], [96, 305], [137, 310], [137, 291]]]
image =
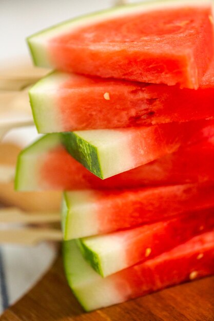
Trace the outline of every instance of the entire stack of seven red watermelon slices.
[[64, 192], [65, 271], [85, 310], [214, 273], [211, 1], [116, 7], [28, 38], [54, 71], [17, 190]]

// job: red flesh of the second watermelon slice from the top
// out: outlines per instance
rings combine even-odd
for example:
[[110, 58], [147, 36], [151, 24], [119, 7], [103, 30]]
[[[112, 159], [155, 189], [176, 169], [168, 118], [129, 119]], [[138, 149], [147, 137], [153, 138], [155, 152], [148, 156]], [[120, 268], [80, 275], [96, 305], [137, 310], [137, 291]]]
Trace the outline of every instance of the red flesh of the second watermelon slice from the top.
[[[80, 85], [77, 81], [77, 88], [74, 85], [75, 77], [80, 77], [83, 82]], [[122, 128], [213, 118], [213, 79], [214, 60], [197, 91], [180, 89], [179, 86], [71, 75], [70, 81], [57, 91], [58, 119], [62, 122], [59, 131]], [[78, 85], [84, 87], [82, 92]], [[69, 89], [67, 95], [66, 88]], [[106, 92], [109, 99], [104, 98]]]

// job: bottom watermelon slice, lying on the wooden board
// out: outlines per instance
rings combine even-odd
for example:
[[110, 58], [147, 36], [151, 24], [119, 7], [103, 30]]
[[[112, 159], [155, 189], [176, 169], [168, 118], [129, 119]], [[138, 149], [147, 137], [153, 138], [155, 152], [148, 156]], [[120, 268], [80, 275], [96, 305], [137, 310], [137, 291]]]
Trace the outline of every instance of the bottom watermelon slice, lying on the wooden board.
[[64, 242], [68, 283], [86, 311], [125, 302], [214, 273], [214, 233], [196, 236], [169, 252], [102, 278], [82, 257], [75, 241]]

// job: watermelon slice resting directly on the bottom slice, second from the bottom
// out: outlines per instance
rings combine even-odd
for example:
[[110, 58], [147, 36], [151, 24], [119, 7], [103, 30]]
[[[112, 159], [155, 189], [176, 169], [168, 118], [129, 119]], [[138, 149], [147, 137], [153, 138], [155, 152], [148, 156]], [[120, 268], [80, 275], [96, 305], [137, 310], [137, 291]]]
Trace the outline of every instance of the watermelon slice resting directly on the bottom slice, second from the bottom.
[[203, 209], [134, 229], [77, 241], [83, 256], [103, 277], [157, 256], [214, 228], [214, 208]]

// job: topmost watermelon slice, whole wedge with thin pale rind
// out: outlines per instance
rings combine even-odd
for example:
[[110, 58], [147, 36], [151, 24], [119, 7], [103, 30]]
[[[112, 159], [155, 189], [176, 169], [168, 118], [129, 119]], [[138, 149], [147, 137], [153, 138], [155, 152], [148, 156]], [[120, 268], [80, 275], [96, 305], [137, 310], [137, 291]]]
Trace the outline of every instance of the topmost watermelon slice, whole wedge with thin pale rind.
[[34, 34], [28, 44], [37, 66], [197, 89], [213, 56], [211, 1], [116, 7]]

